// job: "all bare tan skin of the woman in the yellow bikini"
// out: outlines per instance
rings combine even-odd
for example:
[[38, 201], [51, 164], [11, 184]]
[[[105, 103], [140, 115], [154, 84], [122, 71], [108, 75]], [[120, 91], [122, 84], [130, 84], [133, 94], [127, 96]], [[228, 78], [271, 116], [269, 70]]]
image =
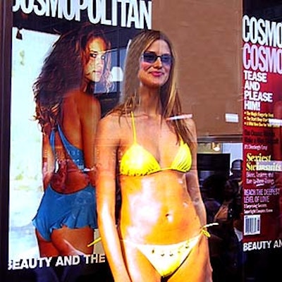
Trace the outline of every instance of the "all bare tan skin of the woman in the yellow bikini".
[[[147, 51], [171, 54], [164, 40], [154, 41]], [[177, 135], [169, 121], [161, 120], [159, 87], [168, 79], [170, 66], [160, 59], [140, 61], [140, 106], [134, 111], [137, 142], [159, 161], [171, 166], [178, 152]], [[195, 124], [187, 121], [193, 142]], [[164, 170], [148, 176], [120, 176], [122, 206], [118, 228], [115, 223], [115, 168], [133, 144], [130, 116], [113, 113], [99, 121], [97, 131], [97, 212], [102, 243], [116, 282], [157, 282], [160, 274], [129, 240], [141, 244], [179, 243], [200, 234], [206, 223], [204, 204], [197, 178], [197, 152], [192, 149], [188, 173]], [[203, 271], [203, 269], [207, 269]], [[167, 281], [212, 281], [207, 238], [201, 236], [188, 259]]]

